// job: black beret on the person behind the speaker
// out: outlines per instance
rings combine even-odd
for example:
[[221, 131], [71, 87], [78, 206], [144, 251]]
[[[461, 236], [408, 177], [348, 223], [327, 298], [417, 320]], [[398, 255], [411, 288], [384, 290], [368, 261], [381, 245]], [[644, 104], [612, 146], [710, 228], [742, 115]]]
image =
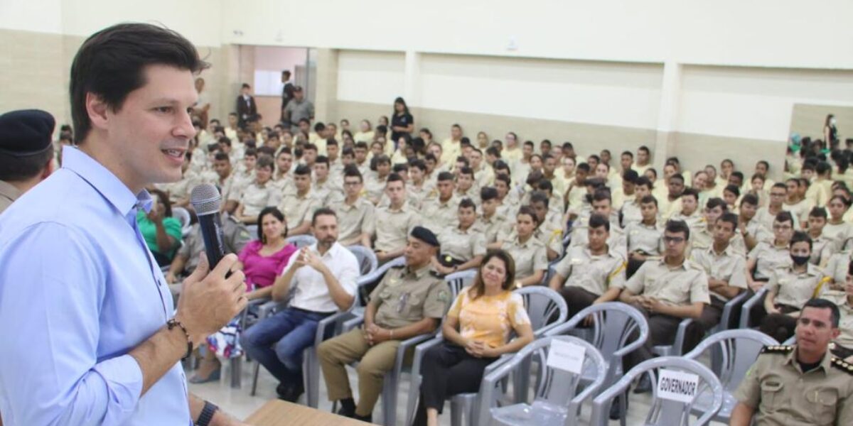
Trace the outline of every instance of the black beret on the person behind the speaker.
[[49, 112], [27, 109], [0, 115], [0, 153], [27, 157], [52, 147], [56, 122]]

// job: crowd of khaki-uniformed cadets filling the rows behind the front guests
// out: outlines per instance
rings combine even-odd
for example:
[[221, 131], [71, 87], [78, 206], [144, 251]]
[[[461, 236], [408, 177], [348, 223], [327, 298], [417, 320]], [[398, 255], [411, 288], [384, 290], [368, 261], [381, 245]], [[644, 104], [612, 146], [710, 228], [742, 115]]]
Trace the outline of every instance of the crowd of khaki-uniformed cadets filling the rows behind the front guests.
[[[763, 286], [769, 296], [756, 324], [780, 342], [812, 296], [853, 309], [844, 293], [849, 151], [789, 152], [786, 179], [776, 182], [765, 161], [746, 174], [730, 159], [693, 173], [668, 158], [655, 170], [647, 147], [583, 158], [571, 142], [537, 147], [512, 132], [471, 141], [458, 124], [444, 141], [427, 129], [391, 141], [384, 117], [357, 130], [347, 120], [302, 120], [295, 135], [237, 123], [231, 114], [226, 124], [196, 124], [183, 180], [160, 187], [174, 205], [191, 209], [191, 188], [213, 183], [223, 210], [249, 226], [278, 207], [287, 236], [309, 233], [312, 212], [329, 207], [339, 241], [372, 247], [380, 262], [401, 256], [421, 225], [440, 240], [438, 273], [476, 268], [486, 250], [502, 248], [516, 260], [517, 285], [560, 291], [570, 314], [617, 300], [641, 308], [649, 347], [671, 341], [682, 318], [697, 320], [700, 337], [725, 302]], [[842, 329], [836, 348], [853, 354], [853, 330]]]

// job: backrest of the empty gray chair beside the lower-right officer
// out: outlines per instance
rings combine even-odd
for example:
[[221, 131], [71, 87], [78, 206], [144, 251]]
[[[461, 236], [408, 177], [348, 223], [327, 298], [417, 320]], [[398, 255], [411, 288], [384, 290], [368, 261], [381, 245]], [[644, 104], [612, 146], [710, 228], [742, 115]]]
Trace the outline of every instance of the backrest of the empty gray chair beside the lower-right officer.
[[711, 370], [717, 374], [724, 389], [734, 392], [746, 377], [746, 371], [755, 363], [761, 348], [778, 344], [776, 339], [761, 331], [727, 330], [705, 337], [699, 346], [684, 357], [696, 360], [699, 355], [710, 350]]

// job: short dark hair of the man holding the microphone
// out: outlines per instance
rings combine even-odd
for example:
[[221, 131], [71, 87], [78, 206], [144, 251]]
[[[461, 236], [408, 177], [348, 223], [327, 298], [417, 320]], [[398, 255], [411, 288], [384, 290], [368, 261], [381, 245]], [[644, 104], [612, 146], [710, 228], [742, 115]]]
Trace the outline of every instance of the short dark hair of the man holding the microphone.
[[148, 83], [145, 69], [151, 65], [174, 66], [194, 74], [210, 66], [199, 59], [193, 43], [160, 26], [118, 24], [87, 38], [71, 65], [74, 141], [82, 142], [92, 127], [86, 94], [96, 95], [110, 110], [119, 111], [127, 95]]

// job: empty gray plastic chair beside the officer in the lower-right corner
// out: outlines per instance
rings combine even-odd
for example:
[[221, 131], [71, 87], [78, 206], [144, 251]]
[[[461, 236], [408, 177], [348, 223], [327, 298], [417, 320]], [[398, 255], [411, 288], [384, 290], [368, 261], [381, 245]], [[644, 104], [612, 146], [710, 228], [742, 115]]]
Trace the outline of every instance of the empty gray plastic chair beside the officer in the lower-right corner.
[[[755, 364], [761, 348], [764, 346], [778, 345], [773, 337], [769, 337], [761, 331], [755, 330], [727, 330], [706, 337], [699, 346], [694, 348], [684, 358], [696, 360], [701, 354], [711, 351], [711, 369], [722, 383], [722, 407], [713, 420], [728, 423], [732, 416], [732, 410], [738, 400], [734, 398], [734, 391], [738, 389], [740, 381], [746, 376], [746, 371]], [[711, 405], [711, 394], [704, 392], [696, 396], [693, 401], [692, 411], [695, 414], [705, 412]]]

